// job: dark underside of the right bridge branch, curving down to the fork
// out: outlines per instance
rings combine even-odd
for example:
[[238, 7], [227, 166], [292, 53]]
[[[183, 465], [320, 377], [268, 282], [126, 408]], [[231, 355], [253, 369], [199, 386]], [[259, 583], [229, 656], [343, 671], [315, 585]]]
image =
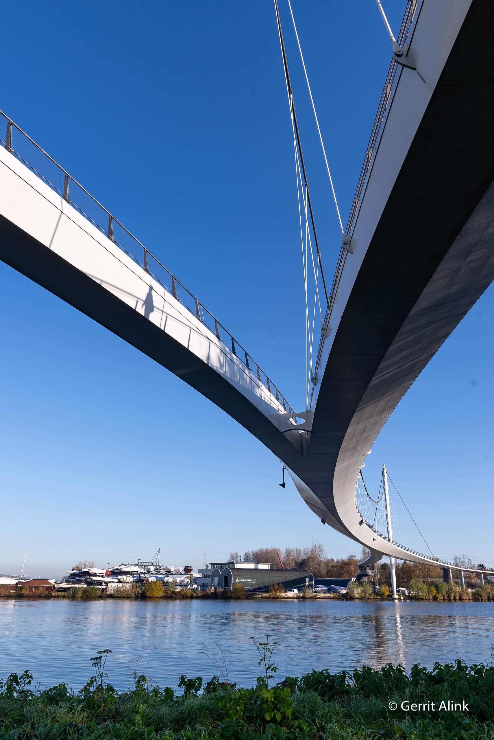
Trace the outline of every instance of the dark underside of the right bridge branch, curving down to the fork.
[[353, 519], [354, 535], [348, 494], [365, 454], [494, 279], [493, 24], [494, 6], [474, 0], [353, 284], [310, 455], [295, 468], [336, 522]]

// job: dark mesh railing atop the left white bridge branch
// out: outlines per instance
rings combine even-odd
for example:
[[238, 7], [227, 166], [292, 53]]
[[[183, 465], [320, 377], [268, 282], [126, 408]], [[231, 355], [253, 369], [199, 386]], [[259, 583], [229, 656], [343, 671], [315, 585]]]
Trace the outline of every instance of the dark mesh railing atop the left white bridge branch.
[[223, 324], [115, 216], [107, 211], [101, 203], [98, 203], [78, 181], [72, 178], [72, 175], [69, 175], [44, 149], [38, 147], [38, 144], [30, 136], [1, 111], [0, 141], [3, 141], [8, 152], [25, 164], [35, 175], [38, 175], [67, 203], [78, 210], [84, 218], [91, 221], [106, 237], [112, 240], [120, 249], [123, 249], [149, 275], [152, 275], [169, 294], [173, 295], [186, 309], [192, 312], [200, 323], [207, 326], [217, 338], [218, 343], [222, 343], [229, 348], [257, 386], [264, 386], [271, 397], [276, 398], [285, 411], [294, 413], [293, 408], [291, 408], [280, 389], [252, 359], [246, 349], [225, 329]]

